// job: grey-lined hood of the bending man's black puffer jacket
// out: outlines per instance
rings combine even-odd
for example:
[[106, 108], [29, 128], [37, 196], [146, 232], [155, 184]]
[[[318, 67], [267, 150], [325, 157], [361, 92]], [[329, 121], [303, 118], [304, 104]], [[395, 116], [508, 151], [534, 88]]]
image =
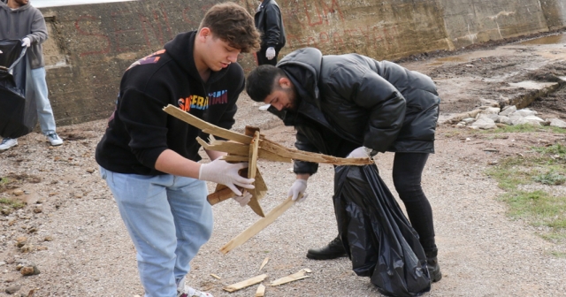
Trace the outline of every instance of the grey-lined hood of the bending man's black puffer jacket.
[[318, 79], [322, 67], [322, 52], [315, 48], [304, 48], [283, 57], [277, 64], [293, 82], [301, 100], [320, 108]]

